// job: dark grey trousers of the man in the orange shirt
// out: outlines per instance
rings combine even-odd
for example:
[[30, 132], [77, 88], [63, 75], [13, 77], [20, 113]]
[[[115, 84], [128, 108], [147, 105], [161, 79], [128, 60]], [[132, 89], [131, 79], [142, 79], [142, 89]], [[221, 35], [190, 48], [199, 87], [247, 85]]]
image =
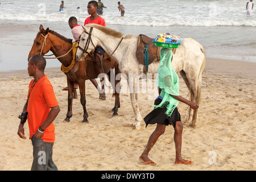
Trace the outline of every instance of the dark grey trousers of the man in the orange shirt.
[[52, 161], [53, 143], [43, 142], [43, 139], [31, 138], [34, 160], [31, 171], [57, 171], [57, 166]]

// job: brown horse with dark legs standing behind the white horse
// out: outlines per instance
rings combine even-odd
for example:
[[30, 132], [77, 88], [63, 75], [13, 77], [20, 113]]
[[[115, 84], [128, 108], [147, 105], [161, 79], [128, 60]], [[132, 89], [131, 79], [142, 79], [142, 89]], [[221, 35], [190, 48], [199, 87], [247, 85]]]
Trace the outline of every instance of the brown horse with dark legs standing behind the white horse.
[[[57, 34], [57, 32], [49, 30], [47, 28], [44, 30], [43, 26], [40, 25], [39, 32], [36, 35], [36, 38], [34, 40], [34, 44], [31, 48], [31, 51], [28, 55], [28, 59], [30, 59], [33, 55], [45, 55], [49, 51], [52, 51], [52, 53], [59, 57], [57, 58], [61, 64], [64, 65], [64, 67], [68, 67], [71, 65], [72, 62], [72, 51], [68, 52], [72, 48], [72, 39], [67, 39], [64, 36]], [[68, 52], [68, 53], [67, 53]], [[67, 53], [67, 55], [65, 55]], [[65, 55], [63, 57], [60, 57], [62, 55]], [[85, 100], [85, 80], [93, 79], [98, 77], [98, 70], [96, 67], [96, 63], [92, 60], [90, 56], [88, 55], [85, 59], [75, 62], [71, 70], [65, 75], [67, 76], [67, 82], [68, 82], [68, 113], [67, 118], [64, 120], [69, 122], [69, 119], [72, 117], [72, 101], [73, 101], [73, 88], [74, 84], [79, 84], [79, 90], [80, 90], [80, 101], [82, 104], [82, 107], [84, 109], [84, 119], [82, 122], [88, 123], [88, 113], [86, 111], [86, 100]], [[103, 61], [103, 67], [105, 73], [109, 76], [110, 79], [110, 69], [115, 68], [115, 75], [117, 75], [119, 72], [118, 64], [115, 63], [113, 59], [107, 59]], [[115, 80], [115, 79], [114, 79]], [[115, 81], [115, 83], [112, 83], [112, 85], [117, 85], [118, 80]], [[119, 101], [119, 93], [117, 92], [116, 88], [114, 89], [116, 92], [113, 93], [113, 96], [115, 96], [115, 105], [112, 109], [113, 115], [118, 115], [118, 107], [120, 107], [120, 101]]]

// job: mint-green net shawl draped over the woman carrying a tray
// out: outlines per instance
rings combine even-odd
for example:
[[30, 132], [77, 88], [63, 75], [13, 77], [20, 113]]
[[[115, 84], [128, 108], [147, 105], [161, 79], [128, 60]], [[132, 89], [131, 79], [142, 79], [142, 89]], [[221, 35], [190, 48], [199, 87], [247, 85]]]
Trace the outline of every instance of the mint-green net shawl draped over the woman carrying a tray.
[[156, 86], [162, 89], [160, 96], [163, 97], [162, 102], [157, 107], [166, 107], [166, 115], [171, 116], [179, 101], [171, 95], [179, 96], [179, 77], [177, 73], [172, 69], [171, 65], [172, 49], [162, 48], [160, 50], [160, 63], [158, 68], [158, 78], [156, 78]]

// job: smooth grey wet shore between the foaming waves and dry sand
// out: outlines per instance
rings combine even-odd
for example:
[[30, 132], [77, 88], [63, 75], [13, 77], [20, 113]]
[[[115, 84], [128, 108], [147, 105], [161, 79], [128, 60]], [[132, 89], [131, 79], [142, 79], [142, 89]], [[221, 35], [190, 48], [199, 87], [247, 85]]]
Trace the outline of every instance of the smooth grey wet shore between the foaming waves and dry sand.
[[[0, 20], [0, 22], [5, 22]], [[65, 22], [40, 22], [44, 28], [49, 27], [51, 30], [58, 32], [66, 38], [72, 38], [71, 29]], [[19, 24], [16, 23], [2, 23], [0, 27], [0, 72], [15, 71], [18, 69], [27, 68], [27, 56], [35, 39], [37, 32], [39, 31], [39, 22], [26, 22], [22, 21]], [[79, 22], [82, 23], [82, 22]], [[251, 36], [247, 31], [247, 27], [185, 27], [185, 26], [170, 26], [170, 27], [149, 27], [149, 26], [123, 26], [109, 24], [109, 27], [120, 31], [123, 35], [139, 35], [145, 34], [149, 37], [154, 37], [159, 32], [171, 32], [174, 35], [180, 35], [181, 38], [193, 38], [199, 42], [207, 52], [207, 56], [213, 57], [214, 59], [222, 60], [236, 60], [249, 63], [256, 63], [256, 53], [254, 51], [254, 44], [249, 46], [240, 46], [239, 48], [234, 45], [233, 42], [228, 42], [224, 47], [221, 45], [214, 44], [214, 36], [218, 31], [222, 31], [222, 34], [231, 36], [230, 32], [236, 30], [246, 31], [246, 36]], [[234, 29], [234, 30], [233, 30]], [[249, 28], [251, 30], [251, 28]], [[197, 33], [200, 31], [201, 33]], [[202, 34], [208, 34], [207, 36], [201, 36]], [[253, 38], [253, 36], [252, 36]], [[241, 38], [240, 38], [241, 39]], [[240, 40], [239, 39], [239, 40]], [[223, 42], [222, 42], [223, 44]], [[217, 48], [216, 48], [217, 46]], [[220, 47], [221, 46], [221, 47]], [[253, 50], [253, 51], [251, 51]], [[48, 61], [48, 66], [59, 67], [60, 63], [58, 60], [53, 59]]]

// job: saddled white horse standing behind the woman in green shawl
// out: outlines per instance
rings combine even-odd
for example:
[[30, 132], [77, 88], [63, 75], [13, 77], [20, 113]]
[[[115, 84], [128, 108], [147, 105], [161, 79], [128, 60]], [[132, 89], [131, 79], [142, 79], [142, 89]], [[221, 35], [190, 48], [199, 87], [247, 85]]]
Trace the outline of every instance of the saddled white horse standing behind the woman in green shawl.
[[[139, 64], [135, 55], [139, 36], [126, 35], [123, 38], [121, 32], [97, 24], [88, 24], [84, 27], [84, 30], [80, 38], [80, 49], [77, 49], [76, 52], [78, 60], [80, 60], [85, 50], [90, 52], [94, 46], [100, 45], [117, 61], [119, 70], [126, 75], [128, 84], [129, 74], [140, 75], [143, 73], [143, 65]], [[201, 99], [201, 76], [205, 68], [205, 59], [206, 55], [203, 46], [191, 38], [182, 39], [172, 59], [172, 68], [176, 73], [180, 72], [189, 89], [191, 101], [195, 101], [198, 105]], [[156, 73], [158, 65], [156, 61], [148, 65], [148, 73]], [[132, 88], [135, 88], [135, 82], [133, 84]], [[139, 112], [137, 93], [134, 90], [130, 90], [130, 97], [135, 115], [133, 126], [139, 129], [142, 117]], [[196, 123], [197, 111], [198, 109], [194, 110], [192, 114], [192, 110], [189, 107], [188, 121], [191, 122], [192, 126]]]

